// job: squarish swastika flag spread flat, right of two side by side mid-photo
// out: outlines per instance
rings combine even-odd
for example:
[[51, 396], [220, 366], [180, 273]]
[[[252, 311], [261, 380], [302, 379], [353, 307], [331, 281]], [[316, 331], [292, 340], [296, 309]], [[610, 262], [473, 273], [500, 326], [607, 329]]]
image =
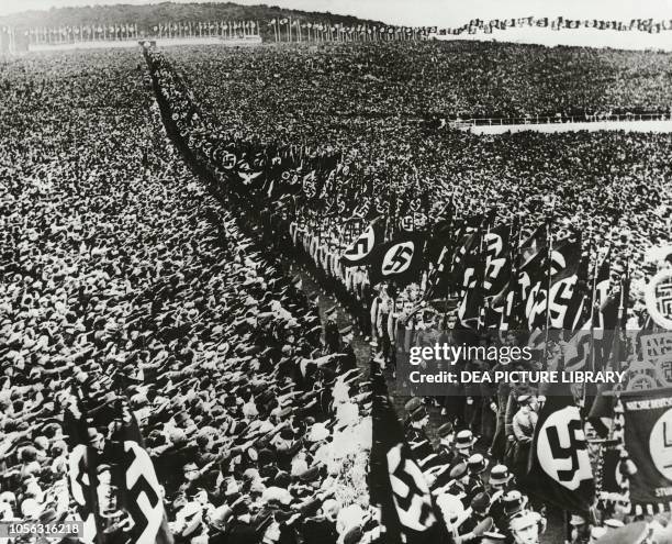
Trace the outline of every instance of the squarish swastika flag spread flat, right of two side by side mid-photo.
[[371, 285], [394, 281], [404, 287], [419, 279], [425, 234], [404, 233], [391, 242], [378, 245], [370, 257]]

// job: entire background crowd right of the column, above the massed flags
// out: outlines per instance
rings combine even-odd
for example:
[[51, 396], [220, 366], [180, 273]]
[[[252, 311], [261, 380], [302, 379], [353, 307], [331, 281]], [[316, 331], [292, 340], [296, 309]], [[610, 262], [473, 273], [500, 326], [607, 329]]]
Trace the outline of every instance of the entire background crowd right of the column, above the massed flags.
[[[344, 217], [362, 198], [396, 200], [401, 208], [414, 196], [430, 203], [452, 197], [462, 215], [496, 208], [496, 222], [519, 215], [534, 229], [548, 217], [549, 199], [557, 224], [582, 231], [586, 246], [605, 248], [617, 232], [619, 267], [628, 253], [640, 267], [646, 248], [669, 238], [668, 134], [488, 137], [418, 123], [447, 113], [533, 119], [665, 112], [670, 96], [660, 81], [667, 54], [411, 43], [335, 44], [317, 52], [190, 47], [169, 56], [220, 131], [294, 143], [312, 156], [347, 149], [336, 176]], [[323, 223], [329, 231], [334, 220], [324, 213]], [[641, 279], [637, 270], [634, 284]]]

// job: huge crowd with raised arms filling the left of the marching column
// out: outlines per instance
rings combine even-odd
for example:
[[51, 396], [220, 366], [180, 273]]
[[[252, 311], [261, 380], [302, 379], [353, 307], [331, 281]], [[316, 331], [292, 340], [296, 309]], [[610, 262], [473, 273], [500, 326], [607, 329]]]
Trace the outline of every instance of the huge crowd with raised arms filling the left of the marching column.
[[348, 333], [329, 321], [321, 340], [300, 278], [167, 145], [143, 70], [137, 52], [71, 53], [0, 76], [0, 518], [76, 519], [68, 414], [91, 415], [102, 451], [117, 437], [101, 406], [119, 401], [175, 542], [368, 534], [370, 400]]

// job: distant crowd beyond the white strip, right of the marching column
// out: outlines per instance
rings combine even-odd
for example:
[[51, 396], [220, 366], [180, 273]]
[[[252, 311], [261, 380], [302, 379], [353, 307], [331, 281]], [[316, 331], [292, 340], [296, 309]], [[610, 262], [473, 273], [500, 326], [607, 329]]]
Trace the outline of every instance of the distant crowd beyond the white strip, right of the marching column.
[[224, 126], [254, 126], [269, 141], [289, 132], [313, 146], [376, 142], [358, 142], [365, 122], [387, 140], [406, 120], [669, 114], [672, 106], [669, 53], [417, 42], [195, 46], [170, 55]]

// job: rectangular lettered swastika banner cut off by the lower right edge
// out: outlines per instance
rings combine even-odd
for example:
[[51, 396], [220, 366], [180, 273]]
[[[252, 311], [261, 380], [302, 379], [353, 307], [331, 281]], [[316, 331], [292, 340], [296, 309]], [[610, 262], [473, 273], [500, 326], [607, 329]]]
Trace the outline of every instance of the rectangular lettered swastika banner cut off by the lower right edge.
[[621, 397], [625, 445], [637, 473], [630, 478], [634, 506], [672, 503], [672, 389], [632, 391]]

